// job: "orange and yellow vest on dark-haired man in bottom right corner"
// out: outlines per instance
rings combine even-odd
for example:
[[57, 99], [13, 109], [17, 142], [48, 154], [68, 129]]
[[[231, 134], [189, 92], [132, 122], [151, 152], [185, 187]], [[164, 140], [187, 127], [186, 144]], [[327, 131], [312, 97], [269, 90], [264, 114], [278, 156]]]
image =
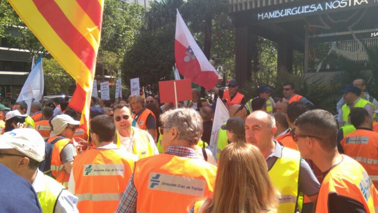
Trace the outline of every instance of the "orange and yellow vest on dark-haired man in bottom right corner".
[[316, 213], [329, 213], [330, 193], [361, 203], [367, 213], [375, 213], [375, 208], [378, 208], [377, 192], [372, 180], [364, 168], [347, 155], [343, 155], [342, 162], [324, 177], [317, 196]]

